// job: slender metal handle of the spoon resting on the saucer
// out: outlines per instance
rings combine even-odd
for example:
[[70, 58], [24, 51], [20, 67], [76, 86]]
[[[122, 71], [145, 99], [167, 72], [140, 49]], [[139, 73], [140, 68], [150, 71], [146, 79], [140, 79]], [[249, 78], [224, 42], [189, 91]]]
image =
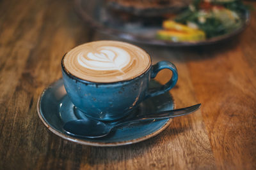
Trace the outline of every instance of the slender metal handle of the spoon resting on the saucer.
[[140, 117], [134, 117], [129, 118], [127, 120], [123, 120], [121, 122], [118, 122], [118, 124], [115, 125], [116, 127], [123, 127], [126, 124], [134, 123], [134, 122], [140, 122], [143, 120], [158, 120], [163, 118], [174, 118], [174, 117], [180, 117], [184, 115], [188, 115], [189, 113], [193, 113], [194, 111], [198, 110], [200, 108], [201, 104], [195, 104], [193, 106], [189, 106], [187, 108], [180, 108], [177, 110], [168, 110], [168, 111], [161, 111], [160, 113], [154, 113], [154, 114], [148, 114], [143, 115]]

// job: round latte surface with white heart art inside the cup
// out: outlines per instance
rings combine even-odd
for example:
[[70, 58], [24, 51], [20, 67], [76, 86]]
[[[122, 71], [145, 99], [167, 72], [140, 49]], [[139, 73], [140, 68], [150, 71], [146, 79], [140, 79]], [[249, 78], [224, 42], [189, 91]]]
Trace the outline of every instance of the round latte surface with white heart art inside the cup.
[[63, 58], [65, 69], [82, 80], [110, 83], [130, 80], [150, 67], [147, 52], [120, 41], [93, 41], [76, 46]]

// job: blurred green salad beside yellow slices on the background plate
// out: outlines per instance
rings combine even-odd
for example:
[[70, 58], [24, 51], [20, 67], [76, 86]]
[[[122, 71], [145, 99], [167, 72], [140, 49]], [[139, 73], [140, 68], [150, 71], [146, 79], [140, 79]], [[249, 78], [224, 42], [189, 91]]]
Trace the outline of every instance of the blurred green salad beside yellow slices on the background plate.
[[232, 32], [242, 25], [242, 16], [248, 8], [237, 0], [212, 0], [210, 3], [195, 0], [175, 18], [205, 32], [207, 38]]

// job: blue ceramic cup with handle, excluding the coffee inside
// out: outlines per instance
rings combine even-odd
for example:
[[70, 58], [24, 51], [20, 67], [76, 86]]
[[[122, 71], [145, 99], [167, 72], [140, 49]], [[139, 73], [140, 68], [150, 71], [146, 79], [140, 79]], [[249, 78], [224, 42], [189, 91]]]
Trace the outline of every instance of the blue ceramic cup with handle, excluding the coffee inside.
[[[152, 66], [150, 60], [147, 71], [131, 80], [97, 83], [71, 74], [65, 68], [63, 59], [61, 68], [68, 96], [87, 117], [97, 120], [113, 121], [126, 117], [141, 101], [172, 89], [178, 79], [177, 69], [171, 62], [161, 61]], [[170, 69], [172, 78], [161, 87], [149, 89], [150, 80], [162, 69]]]

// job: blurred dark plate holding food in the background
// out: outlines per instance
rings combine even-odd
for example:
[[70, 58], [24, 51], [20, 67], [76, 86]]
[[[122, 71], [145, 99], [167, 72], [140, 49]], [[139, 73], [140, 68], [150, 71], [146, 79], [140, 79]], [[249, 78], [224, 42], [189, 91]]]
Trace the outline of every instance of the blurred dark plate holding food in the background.
[[237, 34], [244, 31], [244, 29], [250, 22], [250, 12], [244, 11], [244, 15], [242, 16], [243, 24], [239, 29], [236, 29], [233, 32], [221, 36], [216, 36], [214, 38], [206, 39], [204, 41], [172, 42], [156, 38], [156, 31], [162, 29], [161, 27], [154, 27], [150, 25], [145, 26], [145, 24], [141, 24], [139, 21], [127, 23], [122, 22], [118, 19], [116, 20], [116, 18], [120, 16], [118, 16], [118, 13], [116, 13], [117, 15], [113, 15], [106, 7], [106, 4], [104, 4], [104, 0], [75, 0], [75, 8], [77, 13], [79, 13], [79, 15], [81, 16], [81, 18], [85, 22], [87, 22], [93, 29], [97, 29], [98, 31], [104, 34], [110, 34], [129, 41], [134, 41], [136, 43], [143, 43], [147, 45], [211, 45], [236, 36]]

